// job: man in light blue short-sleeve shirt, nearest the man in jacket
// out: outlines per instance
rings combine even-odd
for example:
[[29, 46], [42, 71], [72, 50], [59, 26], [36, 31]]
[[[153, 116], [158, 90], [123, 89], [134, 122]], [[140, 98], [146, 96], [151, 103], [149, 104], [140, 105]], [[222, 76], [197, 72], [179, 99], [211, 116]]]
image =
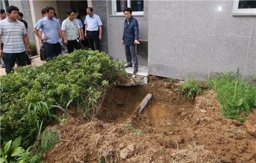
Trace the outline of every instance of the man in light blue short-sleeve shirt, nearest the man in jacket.
[[[89, 48], [92, 50], [101, 51], [100, 41], [102, 39], [102, 22], [101, 18], [96, 15], [92, 7], [88, 7], [87, 16], [85, 18], [85, 34], [84, 36], [88, 39]], [[95, 48], [94, 48], [95, 44]]]

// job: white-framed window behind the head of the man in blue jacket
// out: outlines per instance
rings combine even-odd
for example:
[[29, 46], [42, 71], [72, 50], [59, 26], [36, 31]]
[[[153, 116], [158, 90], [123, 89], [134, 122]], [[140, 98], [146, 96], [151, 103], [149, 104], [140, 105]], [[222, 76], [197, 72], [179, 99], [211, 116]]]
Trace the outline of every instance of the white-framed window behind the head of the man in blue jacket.
[[113, 15], [123, 15], [123, 10], [130, 7], [133, 15], [143, 15], [143, 0], [112, 0]]

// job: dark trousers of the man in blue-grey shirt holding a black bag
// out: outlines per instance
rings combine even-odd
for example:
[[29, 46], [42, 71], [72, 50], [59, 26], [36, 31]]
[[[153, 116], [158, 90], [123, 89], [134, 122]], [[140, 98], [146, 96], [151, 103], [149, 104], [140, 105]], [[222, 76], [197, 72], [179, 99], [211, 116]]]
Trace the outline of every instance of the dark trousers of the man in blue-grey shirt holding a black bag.
[[57, 57], [58, 55], [61, 54], [61, 44], [60, 43], [50, 44], [50, 43], [44, 42], [44, 48], [47, 53], [47, 59]]

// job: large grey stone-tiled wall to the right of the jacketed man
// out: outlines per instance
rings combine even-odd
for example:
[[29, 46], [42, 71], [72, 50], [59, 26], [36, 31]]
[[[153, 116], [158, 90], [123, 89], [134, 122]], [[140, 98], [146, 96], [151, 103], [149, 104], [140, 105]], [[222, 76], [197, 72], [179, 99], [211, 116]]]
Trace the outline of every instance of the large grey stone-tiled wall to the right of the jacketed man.
[[[233, 0], [148, 1], [148, 73], [200, 80], [256, 74], [256, 16], [232, 16]], [[220, 9], [220, 10], [218, 10]]]

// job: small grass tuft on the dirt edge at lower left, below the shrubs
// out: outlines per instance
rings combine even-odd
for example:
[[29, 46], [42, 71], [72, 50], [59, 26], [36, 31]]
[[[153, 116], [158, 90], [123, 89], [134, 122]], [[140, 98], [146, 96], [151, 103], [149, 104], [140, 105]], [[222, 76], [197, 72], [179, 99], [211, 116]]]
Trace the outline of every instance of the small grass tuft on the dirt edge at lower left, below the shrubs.
[[45, 131], [42, 134], [40, 151], [41, 152], [48, 151], [58, 142], [59, 142], [58, 130]]

